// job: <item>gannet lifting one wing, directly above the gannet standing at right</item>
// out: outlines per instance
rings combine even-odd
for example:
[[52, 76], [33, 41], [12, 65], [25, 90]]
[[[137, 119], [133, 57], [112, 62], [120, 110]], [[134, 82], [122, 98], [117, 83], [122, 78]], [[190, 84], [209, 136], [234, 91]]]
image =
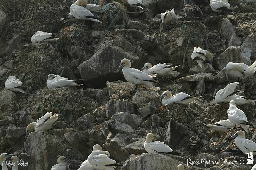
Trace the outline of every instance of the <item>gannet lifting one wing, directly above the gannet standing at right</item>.
[[240, 82], [230, 83], [224, 89], [220, 89], [219, 91], [217, 91], [217, 93], [215, 95], [215, 102], [223, 103], [223, 102], [230, 102], [231, 100], [234, 100], [235, 103], [238, 105], [255, 102], [256, 101], [255, 98], [248, 98], [248, 97], [236, 95], [236, 93], [239, 91], [247, 90], [247, 89], [242, 89], [242, 90], [235, 91], [236, 86], [239, 83]]

